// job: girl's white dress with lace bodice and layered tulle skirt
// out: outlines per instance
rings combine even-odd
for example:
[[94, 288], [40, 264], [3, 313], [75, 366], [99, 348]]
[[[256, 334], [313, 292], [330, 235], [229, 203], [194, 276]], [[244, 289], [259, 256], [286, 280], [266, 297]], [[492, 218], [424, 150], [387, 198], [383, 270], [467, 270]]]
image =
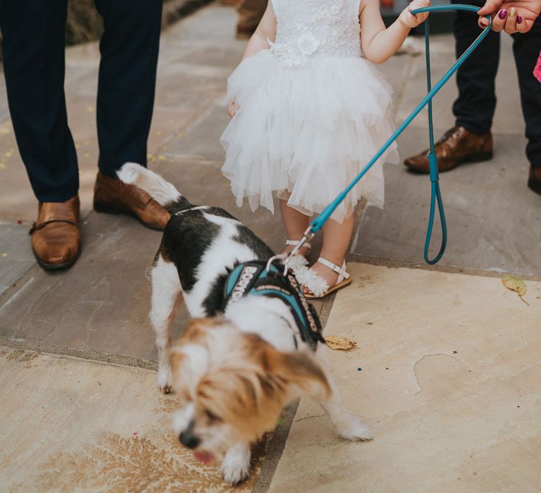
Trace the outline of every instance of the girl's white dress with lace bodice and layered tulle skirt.
[[[237, 205], [274, 211], [273, 192], [311, 216], [325, 208], [387, 141], [392, 89], [363, 58], [359, 0], [272, 0], [275, 42], [230, 75], [239, 110], [223, 132], [223, 174]], [[342, 222], [362, 196], [383, 206], [383, 162], [333, 213]]]

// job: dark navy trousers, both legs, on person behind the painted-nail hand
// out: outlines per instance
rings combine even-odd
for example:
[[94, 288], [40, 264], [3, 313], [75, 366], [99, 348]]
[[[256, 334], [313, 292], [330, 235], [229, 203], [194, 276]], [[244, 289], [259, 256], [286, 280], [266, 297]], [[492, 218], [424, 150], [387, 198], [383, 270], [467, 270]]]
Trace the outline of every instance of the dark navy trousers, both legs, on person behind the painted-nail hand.
[[[453, 3], [464, 3], [453, 0]], [[482, 6], [484, 2], [468, 2]], [[477, 16], [457, 12], [454, 37], [457, 56], [464, 53], [480, 34]], [[464, 62], [456, 73], [459, 97], [453, 105], [456, 125], [470, 132], [489, 132], [496, 109], [495, 78], [499, 63], [499, 38], [504, 32], [489, 32], [485, 41]], [[513, 52], [521, 91], [521, 106], [526, 122], [526, 156], [533, 166], [541, 166], [541, 83], [533, 76], [533, 69], [541, 51], [541, 19], [537, 19], [526, 34], [513, 36]], [[518, 105], [517, 105], [518, 106]], [[518, 111], [518, 107], [517, 107]]]

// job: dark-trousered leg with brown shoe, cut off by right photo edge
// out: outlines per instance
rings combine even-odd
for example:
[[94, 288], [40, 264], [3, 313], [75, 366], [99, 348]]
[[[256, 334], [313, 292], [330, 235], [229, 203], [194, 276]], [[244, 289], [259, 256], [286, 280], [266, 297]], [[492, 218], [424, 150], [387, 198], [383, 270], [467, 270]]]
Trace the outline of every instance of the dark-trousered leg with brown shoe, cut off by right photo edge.
[[530, 161], [528, 186], [541, 195], [541, 83], [533, 69], [541, 50], [541, 19], [526, 34], [513, 35], [513, 51], [521, 89], [521, 104], [526, 121], [526, 156]]

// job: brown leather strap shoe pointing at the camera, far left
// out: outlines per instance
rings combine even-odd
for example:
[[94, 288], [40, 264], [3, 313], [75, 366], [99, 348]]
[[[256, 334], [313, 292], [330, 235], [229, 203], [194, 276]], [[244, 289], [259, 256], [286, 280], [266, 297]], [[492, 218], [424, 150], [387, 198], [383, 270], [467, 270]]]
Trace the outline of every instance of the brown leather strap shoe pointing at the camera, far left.
[[79, 197], [66, 202], [39, 202], [37, 221], [29, 234], [37, 263], [44, 269], [72, 266], [81, 249]]

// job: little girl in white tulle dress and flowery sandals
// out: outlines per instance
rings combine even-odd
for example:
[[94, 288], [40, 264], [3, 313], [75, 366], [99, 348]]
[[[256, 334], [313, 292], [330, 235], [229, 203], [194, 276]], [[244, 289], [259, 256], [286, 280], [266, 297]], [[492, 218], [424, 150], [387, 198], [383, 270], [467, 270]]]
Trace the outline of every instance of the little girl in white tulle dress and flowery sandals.
[[[392, 90], [373, 63], [396, 53], [428, 15], [410, 11], [428, 4], [414, 0], [385, 29], [379, 0], [268, 2], [228, 80], [232, 120], [221, 138], [222, 171], [239, 206], [247, 197], [252, 210], [261, 205], [274, 212], [278, 192], [285, 251], [392, 135]], [[384, 162], [398, 162], [396, 145], [325, 224], [318, 261], [297, 269], [309, 297], [351, 282], [344, 258], [354, 208], [361, 197], [383, 206]], [[299, 253], [306, 256], [309, 246]]]

